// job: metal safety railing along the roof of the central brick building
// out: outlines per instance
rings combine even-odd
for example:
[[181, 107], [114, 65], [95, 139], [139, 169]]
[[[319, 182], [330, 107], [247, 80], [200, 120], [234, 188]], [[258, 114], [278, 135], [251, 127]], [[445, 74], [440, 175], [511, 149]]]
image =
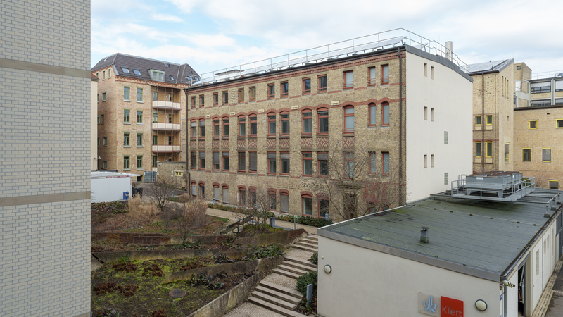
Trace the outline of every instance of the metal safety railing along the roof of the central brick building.
[[451, 56], [451, 61], [467, 73], [467, 64], [453, 52], [448, 52], [448, 49], [441, 43], [426, 39], [426, 37], [417, 35], [415, 32], [398, 28], [277, 57], [262, 59], [261, 61], [222, 68], [209, 73], [202, 73], [192, 82], [192, 85], [205, 85], [260, 73], [269, 73], [274, 70], [289, 69], [296, 66], [305, 66], [322, 61], [366, 54], [370, 51], [388, 49], [402, 46], [403, 44], [444, 58]]

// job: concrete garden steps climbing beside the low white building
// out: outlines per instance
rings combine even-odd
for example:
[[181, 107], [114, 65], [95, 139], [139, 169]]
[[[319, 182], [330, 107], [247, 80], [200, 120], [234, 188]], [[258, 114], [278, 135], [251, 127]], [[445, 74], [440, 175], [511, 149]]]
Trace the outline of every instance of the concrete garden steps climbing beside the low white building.
[[[298, 242], [294, 242], [290, 247], [309, 251], [311, 254], [312, 252], [317, 252], [317, 236], [309, 235]], [[293, 278], [297, 283], [297, 278], [301, 275], [316, 270], [317, 265], [311, 261], [285, 255], [284, 261], [274, 268], [272, 272]], [[303, 315], [293, 311], [293, 309], [297, 307], [302, 298], [303, 294], [296, 290], [262, 280], [254, 288], [251, 296], [248, 297], [248, 302], [287, 317], [298, 317]]]

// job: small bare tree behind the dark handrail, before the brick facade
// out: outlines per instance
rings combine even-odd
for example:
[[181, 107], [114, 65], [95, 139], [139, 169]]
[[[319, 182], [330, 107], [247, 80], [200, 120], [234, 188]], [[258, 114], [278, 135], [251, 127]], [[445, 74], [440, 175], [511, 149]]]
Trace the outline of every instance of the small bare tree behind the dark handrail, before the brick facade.
[[242, 212], [237, 214], [237, 217], [240, 220], [251, 217], [255, 230], [266, 231], [269, 218], [274, 216], [274, 213], [270, 210], [276, 210], [278, 205], [278, 194], [251, 188], [244, 192], [239, 192], [238, 206], [241, 207]]

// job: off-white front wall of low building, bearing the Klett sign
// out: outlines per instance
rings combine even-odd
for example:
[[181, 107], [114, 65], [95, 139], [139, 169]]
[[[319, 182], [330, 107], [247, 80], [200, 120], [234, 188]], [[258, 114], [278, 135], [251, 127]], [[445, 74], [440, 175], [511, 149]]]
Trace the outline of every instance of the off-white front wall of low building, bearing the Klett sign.
[[[324, 273], [329, 264], [332, 272]], [[498, 282], [475, 278], [319, 236], [318, 312], [340, 316], [427, 316], [419, 292], [464, 302], [464, 317], [498, 317]], [[488, 304], [475, 308], [477, 299]]]

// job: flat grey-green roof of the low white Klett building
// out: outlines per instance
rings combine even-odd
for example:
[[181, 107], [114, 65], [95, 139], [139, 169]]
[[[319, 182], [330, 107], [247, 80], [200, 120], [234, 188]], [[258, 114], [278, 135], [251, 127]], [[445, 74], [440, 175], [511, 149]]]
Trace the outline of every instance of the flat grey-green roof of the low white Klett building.
[[[554, 191], [556, 192], [556, 191]], [[451, 198], [450, 198], [451, 200]], [[560, 205], [557, 211], [561, 209]], [[551, 218], [543, 204], [424, 199], [329, 225], [318, 234], [407, 259], [498, 280]], [[553, 216], [556, 211], [550, 210]], [[429, 227], [429, 243], [420, 227]]]

